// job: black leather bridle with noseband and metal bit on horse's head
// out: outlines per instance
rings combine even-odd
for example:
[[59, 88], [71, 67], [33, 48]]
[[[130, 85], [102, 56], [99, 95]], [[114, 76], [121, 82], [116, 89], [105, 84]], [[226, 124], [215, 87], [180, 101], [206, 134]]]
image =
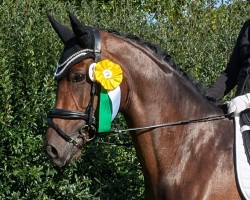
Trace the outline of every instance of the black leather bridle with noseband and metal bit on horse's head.
[[[94, 49], [86, 49], [86, 52], [89, 51], [90, 53], [94, 53], [95, 62], [98, 62], [100, 60], [100, 54], [101, 54], [100, 32], [99, 30], [94, 29], [92, 27], [88, 27], [88, 29], [94, 36]], [[47, 118], [43, 117], [48, 122], [49, 127], [53, 128], [60, 137], [62, 137], [66, 142], [72, 143], [74, 146], [78, 148], [82, 148], [82, 144], [80, 144], [81, 140], [83, 140], [83, 142], [89, 142], [93, 140], [97, 134], [96, 118], [94, 113], [94, 97], [95, 95], [97, 95], [96, 91], [97, 91], [97, 83], [91, 82], [90, 100], [84, 112], [52, 108], [51, 110], [49, 110]], [[68, 120], [84, 120], [86, 121], [86, 124], [83, 125], [78, 130], [78, 132], [73, 134], [67, 134], [63, 132], [58, 127], [58, 125], [56, 125], [53, 122], [54, 118], [68, 119]], [[87, 135], [85, 134], [86, 132], [88, 132], [89, 135], [91, 135], [91, 138], [87, 137]]]

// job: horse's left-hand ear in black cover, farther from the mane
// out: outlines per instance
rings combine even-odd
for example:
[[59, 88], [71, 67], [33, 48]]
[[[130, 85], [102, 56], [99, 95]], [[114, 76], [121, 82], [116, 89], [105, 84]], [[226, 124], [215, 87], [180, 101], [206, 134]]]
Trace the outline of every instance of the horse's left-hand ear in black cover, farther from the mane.
[[49, 18], [49, 21], [50, 21], [53, 29], [56, 31], [57, 35], [60, 37], [60, 39], [62, 40], [62, 42], [64, 44], [69, 39], [72, 38], [72, 35], [74, 34], [72, 30], [70, 30], [66, 26], [64, 26], [64, 25], [60, 24], [59, 22], [57, 22], [52, 15], [47, 14], [47, 16]]

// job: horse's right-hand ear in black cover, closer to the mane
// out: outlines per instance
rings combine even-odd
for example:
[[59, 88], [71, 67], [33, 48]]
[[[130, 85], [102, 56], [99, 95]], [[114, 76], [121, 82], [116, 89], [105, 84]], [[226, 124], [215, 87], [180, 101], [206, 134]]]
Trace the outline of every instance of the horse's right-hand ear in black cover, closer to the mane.
[[78, 39], [78, 42], [82, 47], [90, 48], [93, 45], [94, 39], [93, 34], [90, 30], [81, 24], [81, 22], [74, 16], [72, 13], [69, 12], [69, 18], [71, 22], [72, 29]]

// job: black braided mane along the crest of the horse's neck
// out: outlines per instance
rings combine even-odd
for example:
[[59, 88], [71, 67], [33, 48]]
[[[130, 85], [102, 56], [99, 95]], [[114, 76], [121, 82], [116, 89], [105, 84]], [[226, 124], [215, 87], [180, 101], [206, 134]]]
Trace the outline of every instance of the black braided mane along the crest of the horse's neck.
[[204, 95], [204, 88], [203, 86], [197, 82], [190, 74], [188, 74], [187, 72], [185, 72], [183, 69], [181, 69], [174, 61], [174, 59], [172, 58], [172, 56], [170, 54], [168, 54], [167, 52], [163, 51], [158, 45], [152, 44], [150, 42], [146, 42], [146, 41], [142, 41], [138, 36], [136, 35], [122, 35], [120, 34], [118, 31], [116, 30], [106, 30], [109, 33], [113, 33], [115, 35], [119, 35], [122, 36], [126, 39], [130, 39], [135, 41], [136, 43], [142, 45], [142, 46], [146, 46], [147, 48], [149, 48], [159, 59], [164, 60], [168, 65], [170, 65], [175, 71], [178, 72], [178, 74], [181, 77], [184, 77], [186, 80], [188, 80], [190, 83], [192, 83], [196, 89]]

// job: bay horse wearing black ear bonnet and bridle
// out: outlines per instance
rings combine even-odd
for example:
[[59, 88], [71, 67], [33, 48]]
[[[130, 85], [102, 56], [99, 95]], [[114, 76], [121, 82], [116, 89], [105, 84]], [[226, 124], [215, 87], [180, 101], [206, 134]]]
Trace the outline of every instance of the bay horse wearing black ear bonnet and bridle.
[[131, 130], [142, 166], [147, 200], [241, 199], [234, 173], [234, 126], [176, 67], [171, 57], [135, 38], [85, 26], [69, 14], [72, 30], [49, 15], [65, 44], [55, 72], [57, 96], [48, 113], [44, 147], [64, 166], [98, 137], [100, 84], [89, 77], [92, 63], [108, 59], [123, 71], [119, 111]]

